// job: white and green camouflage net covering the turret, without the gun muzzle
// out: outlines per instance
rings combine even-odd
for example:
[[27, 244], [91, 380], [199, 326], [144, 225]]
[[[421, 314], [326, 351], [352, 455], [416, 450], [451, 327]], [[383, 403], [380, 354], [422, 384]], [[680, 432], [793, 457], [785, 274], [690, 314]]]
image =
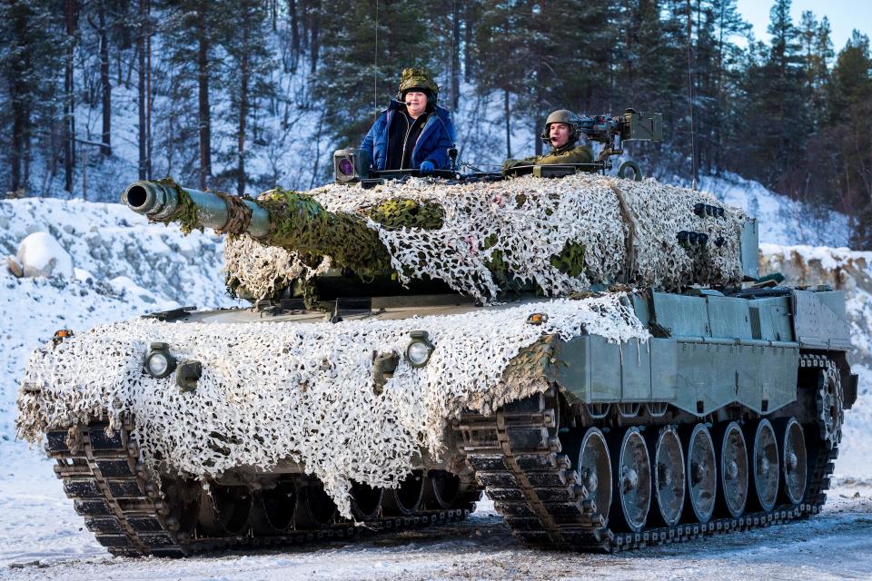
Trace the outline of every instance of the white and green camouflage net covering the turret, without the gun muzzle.
[[[330, 219], [282, 226], [284, 233], [267, 243], [285, 250], [244, 234], [228, 241], [228, 279], [256, 299], [323, 272], [325, 260], [364, 278], [387, 266], [402, 282], [438, 279], [483, 302], [529, 284], [547, 296], [566, 296], [591, 283], [675, 291], [742, 276], [746, 214], [706, 192], [654, 180], [577, 174], [445, 185], [411, 179], [372, 190], [329, 185], [266, 195], [278, 205], [283, 195], [311, 200], [307, 207]], [[724, 215], [699, 216], [693, 212], [699, 203], [724, 208]], [[679, 231], [706, 233], [708, 244], [683, 246]]]

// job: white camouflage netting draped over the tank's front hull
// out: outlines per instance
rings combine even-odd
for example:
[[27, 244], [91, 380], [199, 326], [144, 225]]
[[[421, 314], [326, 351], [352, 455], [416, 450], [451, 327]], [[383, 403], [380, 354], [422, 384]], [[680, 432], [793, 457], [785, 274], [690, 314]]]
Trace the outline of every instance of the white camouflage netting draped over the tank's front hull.
[[[535, 379], [501, 380], [510, 359], [542, 335], [570, 339], [586, 330], [610, 341], [647, 340], [624, 297], [339, 324], [116, 323], [35, 352], [22, 379], [18, 425], [38, 442], [47, 429], [87, 421], [101, 409], [110, 410], [114, 424], [132, 412], [142, 459], [158, 472], [207, 478], [292, 458], [322, 480], [350, 517], [352, 479], [395, 485], [421, 449], [441, 452], [446, 421], [461, 409], [487, 413], [546, 389]], [[527, 324], [532, 312], [549, 319]], [[430, 362], [413, 369], [401, 359], [376, 395], [373, 351], [402, 353], [411, 330], [430, 333], [436, 346]], [[153, 341], [169, 343], [177, 359], [203, 363], [195, 391], [180, 393], [172, 376], [144, 373]], [[154, 458], [166, 465], [155, 467]]]

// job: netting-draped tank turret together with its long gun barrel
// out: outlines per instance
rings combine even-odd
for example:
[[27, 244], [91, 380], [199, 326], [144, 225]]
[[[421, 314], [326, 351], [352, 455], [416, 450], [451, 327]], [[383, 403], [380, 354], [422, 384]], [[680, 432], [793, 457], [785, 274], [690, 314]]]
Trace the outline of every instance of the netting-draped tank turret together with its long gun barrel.
[[613, 283], [679, 290], [757, 277], [756, 225], [744, 212], [653, 181], [412, 179], [251, 199], [163, 180], [134, 182], [123, 202], [183, 231], [233, 234], [228, 288], [253, 300], [288, 288], [332, 298], [439, 287], [488, 302], [507, 292], [566, 296]]

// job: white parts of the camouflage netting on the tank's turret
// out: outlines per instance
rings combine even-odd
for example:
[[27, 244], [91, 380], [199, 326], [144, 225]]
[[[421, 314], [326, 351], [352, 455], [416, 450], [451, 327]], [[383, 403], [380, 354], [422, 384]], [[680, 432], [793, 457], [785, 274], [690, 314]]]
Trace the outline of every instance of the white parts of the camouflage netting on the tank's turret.
[[[747, 215], [708, 192], [654, 180], [630, 182], [586, 173], [555, 180], [528, 176], [458, 185], [410, 179], [371, 190], [332, 184], [310, 193], [331, 212], [361, 212], [391, 198], [440, 203], [445, 219], [437, 230], [389, 231], [376, 222], [368, 225], [379, 231], [401, 281], [426, 274], [485, 302], [499, 295], [486, 264], [498, 250], [515, 275], [536, 282], [550, 296], [565, 296], [591, 282], [625, 281], [675, 290], [690, 282], [741, 280], [739, 237]], [[693, 206], [699, 202], [725, 208], [725, 217], [697, 216]], [[627, 251], [630, 228], [632, 256]], [[679, 231], [707, 233], [705, 251], [679, 245]], [[497, 242], [485, 250], [492, 234]], [[720, 248], [713, 243], [718, 237], [725, 241]], [[550, 264], [550, 257], [567, 242], [584, 245], [588, 276], [572, 278]], [[244, 245], [244, 251], [236, 245]], [[245, 281], [255, 298], [269, 294], [277, 283], [286, 284], [297, 272], [311, 276], [292, 252], [257, 246], [247, 236], [226, 245], [228, 259], [252, 257], [228, 260], [227, 268]], [[277, 272], [276, 263], [293, 267]], [[622, 276], [625, 270], [629, 280]], [[290, 278], [282, 281], [279, 275]]]

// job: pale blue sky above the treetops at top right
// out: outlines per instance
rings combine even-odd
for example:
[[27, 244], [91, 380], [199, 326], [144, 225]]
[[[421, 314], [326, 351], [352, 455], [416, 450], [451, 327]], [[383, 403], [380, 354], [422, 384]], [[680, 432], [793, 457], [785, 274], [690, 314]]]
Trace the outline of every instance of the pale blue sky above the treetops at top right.
[[[754, 27], [754, 36], [758, 40], [768, 41], [766, 28], [769, 25], [769, 8], [774, 3], [771, 0], [738, 0], [738, 11]], [[857, 28], [867, 36], [872, 34], [872, 0], [842, 0], [839, 2], [821, 2], [820, 0], [794, 0], [790, 9], [793, 22], [799, 23], [799, 16], [804, 10], [811, 10], [817, 20], [823, 16], [829, 18], [832, 29], [833, 49], [838, 54], [845, 47], [851, 31]]]

